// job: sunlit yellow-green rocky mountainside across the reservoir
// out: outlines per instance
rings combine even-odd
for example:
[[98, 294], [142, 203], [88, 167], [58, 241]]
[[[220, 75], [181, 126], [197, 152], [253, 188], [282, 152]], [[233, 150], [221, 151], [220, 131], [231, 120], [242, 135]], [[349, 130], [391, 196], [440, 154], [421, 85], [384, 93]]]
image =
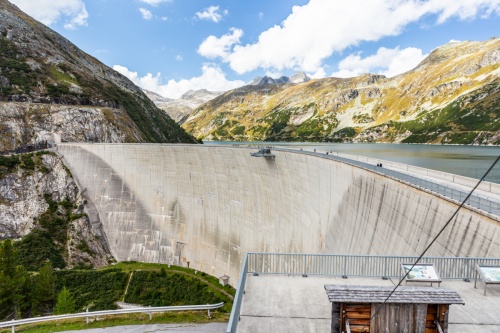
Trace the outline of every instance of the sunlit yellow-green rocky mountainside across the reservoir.
[[198, 107], [205, 140], [500, 144], [500, 39], [451, 43], [393, 78], [248, 85]]

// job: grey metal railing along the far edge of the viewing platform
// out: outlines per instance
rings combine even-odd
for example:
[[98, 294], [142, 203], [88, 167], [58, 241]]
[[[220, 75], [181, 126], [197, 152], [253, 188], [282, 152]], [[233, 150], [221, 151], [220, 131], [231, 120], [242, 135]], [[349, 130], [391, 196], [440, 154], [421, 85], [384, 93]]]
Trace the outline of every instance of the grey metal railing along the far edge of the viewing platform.
[[[248, 253], [249, 273], [328, 275], [352, 277], [402, 276], [401, 263], [418, 256], [371, 256], [341, 254]], [[473, 279], [476, 265], [500, 266], [500, 258], [423, 257], [434, 264], [442, 279]]]

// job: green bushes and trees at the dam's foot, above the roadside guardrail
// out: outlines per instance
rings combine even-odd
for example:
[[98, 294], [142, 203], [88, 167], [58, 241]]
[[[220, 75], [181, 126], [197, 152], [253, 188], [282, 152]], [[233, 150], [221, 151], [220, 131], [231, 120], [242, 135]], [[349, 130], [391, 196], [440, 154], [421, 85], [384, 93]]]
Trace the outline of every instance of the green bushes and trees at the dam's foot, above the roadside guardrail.
[[140, 306], [224, 302], [221, 311], [232, 306], [228, 295], [234, 295], [233, 288], [217, 286], [214, 277], [182, 267], [134, 270], [121, 263], [101, 270], [55, 270], [47, 260], [39, 270], [30, 271], [21, 257], [18, 242], [0, 243], [0, 321], [116, 309], [116, 302], [123, 300]]

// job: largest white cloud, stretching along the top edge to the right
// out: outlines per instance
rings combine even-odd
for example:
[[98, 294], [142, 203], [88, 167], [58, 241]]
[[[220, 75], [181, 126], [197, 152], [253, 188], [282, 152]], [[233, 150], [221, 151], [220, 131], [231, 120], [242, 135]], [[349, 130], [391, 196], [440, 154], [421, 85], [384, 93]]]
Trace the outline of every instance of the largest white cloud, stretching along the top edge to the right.
[[281, 25], [262, 32], [257, 42], [234, 43], [217, 56], [240, 74], [257, 68], [316, 72], [334, 52], [398, 35], [424, 16], [436, 15], [440, 24], [493, 13], [500, 14], [498, 0], [310, 0], [294, 6]]

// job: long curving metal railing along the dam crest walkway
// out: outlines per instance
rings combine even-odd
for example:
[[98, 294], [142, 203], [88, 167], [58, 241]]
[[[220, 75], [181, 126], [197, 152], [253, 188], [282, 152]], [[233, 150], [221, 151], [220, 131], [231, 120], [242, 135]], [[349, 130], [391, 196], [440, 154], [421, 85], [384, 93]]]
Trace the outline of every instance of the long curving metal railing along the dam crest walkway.
[[[432, 191], [434, 193], [440, 194], [442, 196], [445, 196], [447, 198], [450, 198], [452, 200], [455, 200], [459, 203], [461, 203], [468, 195], [468, 192], [465, 192], [460, 189], [456, 189], [447, 185], [443, 184], [438, 184], [436, 182], [422, 179], [416, 176], [411, 176], [402, 172], [398, 172], [395, 170], [390, 170], [382, 167], [378, 167], [366, 162], [361, 162], [361, 161], [356, 161], [352, 159], [348, 159], [345, 157], [340, 157], [332, 154], [324, 154], [324, 153], [317, 153], [317, 152], [310, 152], [310, 151], [304, 151], [304, 150], [296, 150], [296, 149], [288, 149], [288, 148], [273, 148], [273, 150], [276, 151], [286, 151], [286, 152], [291, 152], [291, 153], [296, 153], [296, 154], [305, 154], [305, 155], [313, 155], [313, 156], [318, 156], [322, 158], [328, 158], [331, 160], [335, 160], [338, 162], [342, 162], [345, 164], [357, 166], [363, 169], [367, 169], [373, 172], [381, 173], [384, 174], [388, 177], [398, 179], [400, 181], [403, 181], [405, 183]], [[478, 180], [479, 181], [479, 180]], [[480, 195], [477, 194], [472, 194], [471, 197], [466, 201], [466, 204], [478, 208], [480, 210], [483, 210], [485, 212], [488, 212], [490, 214], [494, 214], [497, 216], [500, 216], [500, 201], [494, 200], [492, 198], [484, 198]]]

